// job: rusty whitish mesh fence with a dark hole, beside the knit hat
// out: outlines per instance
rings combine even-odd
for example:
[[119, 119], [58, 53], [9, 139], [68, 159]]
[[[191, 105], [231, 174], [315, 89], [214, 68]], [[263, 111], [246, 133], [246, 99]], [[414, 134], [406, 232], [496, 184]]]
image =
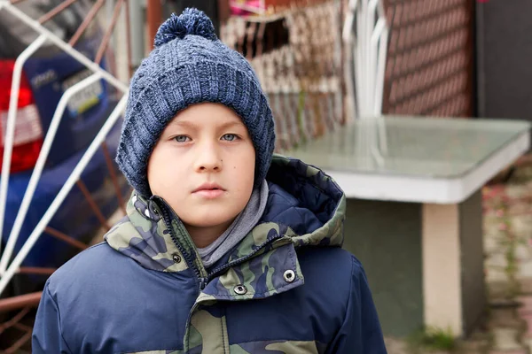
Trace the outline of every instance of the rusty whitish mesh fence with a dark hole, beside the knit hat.
[[231, 17], [223, 42], [254, 67], [277, 119], [278, 149], [340, 124], [340, 2], [324, 1], [269, 16]]

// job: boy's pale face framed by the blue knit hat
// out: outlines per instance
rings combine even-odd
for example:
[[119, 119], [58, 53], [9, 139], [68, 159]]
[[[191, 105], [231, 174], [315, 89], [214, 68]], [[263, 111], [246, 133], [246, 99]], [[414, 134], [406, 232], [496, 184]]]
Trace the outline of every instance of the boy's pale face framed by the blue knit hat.
[[148, 161], [148, 182], [191, 227], [229, 227], [254, 186], [246, 126], [223, 104], [194, 104], [168, 124]]

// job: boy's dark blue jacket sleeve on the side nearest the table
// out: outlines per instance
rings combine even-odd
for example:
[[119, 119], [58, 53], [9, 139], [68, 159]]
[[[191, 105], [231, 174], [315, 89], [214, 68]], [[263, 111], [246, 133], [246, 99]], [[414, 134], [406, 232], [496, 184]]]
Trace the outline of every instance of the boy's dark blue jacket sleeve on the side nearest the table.
[[346, 318], [328, 353], [338, 354], [386, 354], [386, 346], [379, 316], [373, 304], [372, 292], [364, 268], [353, 258], [351, 294], [348, 299]]

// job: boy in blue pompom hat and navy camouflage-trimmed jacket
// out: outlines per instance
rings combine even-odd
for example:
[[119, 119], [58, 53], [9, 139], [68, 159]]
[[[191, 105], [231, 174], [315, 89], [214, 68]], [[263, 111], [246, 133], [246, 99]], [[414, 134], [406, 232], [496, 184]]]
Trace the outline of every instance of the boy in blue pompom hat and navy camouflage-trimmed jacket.
[[134, 187], [106, 242], [54, 273], [35, 353], [386, 353], [345, 197], [273, 156], [246, 59], [187, 9], [132, 81], [117, 162]]

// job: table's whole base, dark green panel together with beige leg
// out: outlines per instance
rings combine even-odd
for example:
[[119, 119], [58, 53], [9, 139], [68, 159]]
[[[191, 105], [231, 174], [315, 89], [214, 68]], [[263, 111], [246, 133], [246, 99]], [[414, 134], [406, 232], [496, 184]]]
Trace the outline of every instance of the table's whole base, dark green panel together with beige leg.
[[364, 265], [385, 335], [465, 335], [485, 309], [480, 191], [450, 205], [349, 198], [344, 248]]

